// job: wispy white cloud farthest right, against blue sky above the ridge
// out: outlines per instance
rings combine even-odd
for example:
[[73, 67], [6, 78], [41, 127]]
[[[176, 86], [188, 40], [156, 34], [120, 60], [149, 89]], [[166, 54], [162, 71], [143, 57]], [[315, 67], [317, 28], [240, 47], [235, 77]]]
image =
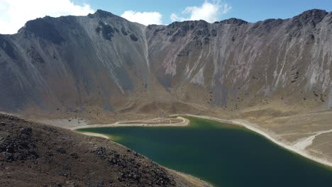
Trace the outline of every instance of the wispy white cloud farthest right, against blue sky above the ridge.
[[231, 10], [231, 6], [221, 1], [204, 1], [201, 6], [189, 6], [182, 11], [182, 15], [177, 16], [176, 13], [172, 13], [170, 18], [172, 21], [185, 21], [185, 20], [204, 20], [209, 23], [218, 21], [218, 16], [228, 13]]

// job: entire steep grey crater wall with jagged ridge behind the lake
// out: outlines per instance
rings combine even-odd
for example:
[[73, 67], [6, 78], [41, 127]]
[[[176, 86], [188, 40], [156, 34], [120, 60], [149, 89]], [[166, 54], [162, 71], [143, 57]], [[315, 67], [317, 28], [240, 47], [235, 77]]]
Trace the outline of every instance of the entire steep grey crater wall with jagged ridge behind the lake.
[[331, 28], [332, 13], [316, 9], [168, 26], [101, 10], [46, 16], [0, 35], [0, 110], [121, 113], [178, 101], [228, 111], [272, 102], [329, 108]]

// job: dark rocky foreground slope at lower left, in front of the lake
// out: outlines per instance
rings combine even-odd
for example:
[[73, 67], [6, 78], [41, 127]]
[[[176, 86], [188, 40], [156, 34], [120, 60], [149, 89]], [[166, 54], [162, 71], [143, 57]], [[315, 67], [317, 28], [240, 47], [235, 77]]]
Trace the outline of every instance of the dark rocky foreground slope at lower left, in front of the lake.
[[1, 186], [199, 186], [114, 142], [0, 114]]

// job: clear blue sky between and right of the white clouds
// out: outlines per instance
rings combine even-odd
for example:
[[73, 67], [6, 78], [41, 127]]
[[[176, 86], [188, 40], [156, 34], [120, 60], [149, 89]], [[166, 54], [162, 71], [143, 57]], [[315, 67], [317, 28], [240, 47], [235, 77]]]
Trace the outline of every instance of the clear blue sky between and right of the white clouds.
[[[132, 10], [139, 12], [157, 11], [162, 14], [162, 23], [171, 23], [171, 13], [181, 12], [188, 6], [201, 6], [204, 0], [77, 0], [91, 4], [94, 9], [111, 11], [116, 15], [121, 15], [124, 11]], [[213, 1], [210, 1], [213, 2]], [[292, 18], [303, 11], [319, 8], [332, 11], [332, 0], [225, 0], [231, 6], [228, 13], [218, 16], [218, 20], [226, 18], [241, 18], [245, 21], [256, 22], [267, 18]]]

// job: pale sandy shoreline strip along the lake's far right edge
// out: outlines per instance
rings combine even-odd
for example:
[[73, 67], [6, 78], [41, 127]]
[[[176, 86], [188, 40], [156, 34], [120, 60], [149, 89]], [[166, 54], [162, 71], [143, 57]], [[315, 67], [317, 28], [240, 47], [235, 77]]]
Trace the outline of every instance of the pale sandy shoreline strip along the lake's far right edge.
[[214, 117], [210, 117], [210, 116], [206, 116], [206, 115], [192, 115], [192, 114], [184, 114], [184, 116], [192, 116], [192, 117], [196, 117], [196, 118], [203, 118], [206, 120], [214, 120], [219, 123], [228, 123], [231, 125], [240, 125], [248, 130], [258, 133], [259, 135], [262, 135], [263, 137], [267, 138], [267, 140], [270, 140], [271, 142], [275, 143], [276, 145], [278, 145], [280, 147], [283, 147], [284, 149], [287, 149], [290, 152], [294, 152], [296, 154], [301, 155], [302, 157], [305, 157], [306, 159], [310, 159], [311, 161], [314, 161], [319, 164], [323, 164], [324, 166], [328, 166], [328, 167], [332, 168], [332, 163], [329, 162], [328, 160], [322, 159], [319, 157], [315, 157], [315, 156], [309, 154], [308, 152], [306, 152], [305, 149], [297, 149], [297, 147], [293, 147], [292, 145], [287, 145], [284, 142], [280, 142], [280, 141], [276, 140], [274, 137], [272, 137], [271, 135], [269, 135], [267, 132], [264, 132], [260, 128], [257, 128], [256, 127], [257, 125], [249, 123], [245, 120], [224, 120], [224, 119], [214, 118]]

